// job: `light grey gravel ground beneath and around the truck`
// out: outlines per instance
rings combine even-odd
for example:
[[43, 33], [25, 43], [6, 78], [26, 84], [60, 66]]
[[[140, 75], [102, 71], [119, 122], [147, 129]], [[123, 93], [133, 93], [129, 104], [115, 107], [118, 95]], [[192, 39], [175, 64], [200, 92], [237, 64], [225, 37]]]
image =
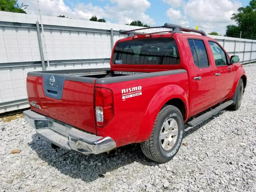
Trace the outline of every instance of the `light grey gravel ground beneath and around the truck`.
[[[158, 164], [138, 144], [84, 156], [50, 147], [23, 118], [0, 122], [0, 191], [256, 191], [256, 64], [240, 109], [186, 130], [173, 160]], [[11, 154], [11, 150], [20, 152]]]

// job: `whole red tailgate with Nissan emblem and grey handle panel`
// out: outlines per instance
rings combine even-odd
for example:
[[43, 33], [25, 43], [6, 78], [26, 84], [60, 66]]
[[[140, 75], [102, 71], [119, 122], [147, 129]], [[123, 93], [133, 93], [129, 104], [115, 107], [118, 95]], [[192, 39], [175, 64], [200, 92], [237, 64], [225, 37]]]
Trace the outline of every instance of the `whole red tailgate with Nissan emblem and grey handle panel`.
[[35, 112], [96, 134], [95, 78], [29, 72], [28, 100]]

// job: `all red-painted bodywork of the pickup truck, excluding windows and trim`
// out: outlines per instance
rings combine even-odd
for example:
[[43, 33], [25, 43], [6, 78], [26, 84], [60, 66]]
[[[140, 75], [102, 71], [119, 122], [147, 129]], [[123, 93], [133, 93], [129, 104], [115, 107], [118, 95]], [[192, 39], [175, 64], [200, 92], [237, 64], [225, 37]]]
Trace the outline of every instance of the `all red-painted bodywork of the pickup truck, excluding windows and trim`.
[[[172, 36], [173, 35], [173, 36]], [[187, 73], [152, 77], [112, 84], [89, 84], [66, 80], [62, 100], [44, 96], [42, 77], [28, 76], [27, 88], [29, 101], [36, 101], [42, 109], [32, 110], [50, 116], [99, 136], [110, 136], [117, 146], [138, 143], [148, 139], [156, 116], [162, 106], [173, 98], [180, 99], [186, 108], [186, 120], [218, 102], [229, 100], [234, 95], [236, 85], [244, 69], [239, 63], [216, 66], [208, 40], [216, 40], [191, 34], [154, 34], [152, 37], [172, 36], [180, 52], [179, 65], [124, 65], [112, 64], [111, 70], [131, 72], [157, 72], [164, 70], [185, 69]], [[194, 64], [188, 38], [202, 39], [208, 53], [210, 66], [198, 68]], [[119, 40], [132, 40], [132, 37]], [[218, 42], [216, 42], [218, 43]], [[112, 58], [110, 59], [110, 61]], [[215, 74], [220, 72], [220, 76]], [[201, 80], [194, 77], [201, 76]], [[130, 98], [122, 98], [122, 89], [141, 86], [141, 94]], [[106, 126], [95, 126], [94, 98], [95, 87], [103, 87], [112, 91], [114, 114]], [[97, 94], [95, 94], [97, 96]], [[109, 102], [107, 102], [109, 104]]]

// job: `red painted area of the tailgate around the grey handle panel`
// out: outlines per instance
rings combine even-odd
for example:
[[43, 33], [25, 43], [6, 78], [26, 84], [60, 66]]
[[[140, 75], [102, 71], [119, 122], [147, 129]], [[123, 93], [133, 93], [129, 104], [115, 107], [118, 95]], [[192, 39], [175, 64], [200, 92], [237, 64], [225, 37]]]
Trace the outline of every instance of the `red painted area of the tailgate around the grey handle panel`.
[[42, 77], [28, 76], [29, 102], [36, 102], [41, 109], [31, 109], [45, 116], [96, 134], [94, 121], [94, 84], [65, 80], [62, 99], [44, 95]]

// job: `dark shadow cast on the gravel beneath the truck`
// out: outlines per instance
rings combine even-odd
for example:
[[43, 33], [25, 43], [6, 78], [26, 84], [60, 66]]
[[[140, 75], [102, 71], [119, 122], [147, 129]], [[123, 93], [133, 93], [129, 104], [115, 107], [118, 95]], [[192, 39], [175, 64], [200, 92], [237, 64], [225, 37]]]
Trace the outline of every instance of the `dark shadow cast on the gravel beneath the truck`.
[[[222, 114], [222, 112], [219, 112], [194, 128], [190, 128], [189, 130], [185, 129], [184, 137], [194, 133], [220, 114]], [[38, 157], [47, 162], [49, 166], [56, 168], [64, 175], [77, 179], [80, 178], [84, 182], [92, 182], [98, 178], [104, 178], [107, 172], [110, 172], [109, 174], [111, 175], [112, 171], [120, 167], [127, 169], [128, 167], [126, 167], [126, 165], [134, 162], [147, 166], [159, 165], [159, 163], [153, 162], [144, 156], [140, 149], [140, 144], [130, 144], [119, 147], [114, 157], [106, 153], [98, 155], [90, 154], [86, 156], [76, 151], [67, 151], [64, 149], [57, 149], [56, 151], [51, 148], [50, 142], [40, 138], [37, 134], [32, 135], [32, 142], [28, 143], [28, 145], [38, 154]]]

